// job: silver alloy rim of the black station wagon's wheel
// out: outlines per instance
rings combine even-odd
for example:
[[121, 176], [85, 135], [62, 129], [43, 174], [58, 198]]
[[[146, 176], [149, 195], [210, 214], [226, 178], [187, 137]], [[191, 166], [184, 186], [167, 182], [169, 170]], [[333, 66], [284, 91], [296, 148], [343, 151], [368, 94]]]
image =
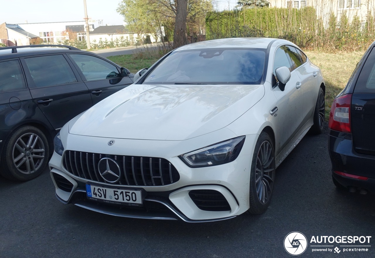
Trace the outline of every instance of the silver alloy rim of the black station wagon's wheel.
[[13, 163], [22, 174], [33, 174], [43, 164], [45, 146], [36, 133], [25, 133], [13, 147]]

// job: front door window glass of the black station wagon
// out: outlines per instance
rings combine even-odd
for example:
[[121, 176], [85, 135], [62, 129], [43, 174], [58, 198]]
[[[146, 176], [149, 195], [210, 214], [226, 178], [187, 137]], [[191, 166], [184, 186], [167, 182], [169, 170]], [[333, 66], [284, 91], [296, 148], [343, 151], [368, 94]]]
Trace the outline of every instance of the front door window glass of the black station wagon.
[[92, 55], [70, 54], [87, 81], [119, 78], [116, 66]]

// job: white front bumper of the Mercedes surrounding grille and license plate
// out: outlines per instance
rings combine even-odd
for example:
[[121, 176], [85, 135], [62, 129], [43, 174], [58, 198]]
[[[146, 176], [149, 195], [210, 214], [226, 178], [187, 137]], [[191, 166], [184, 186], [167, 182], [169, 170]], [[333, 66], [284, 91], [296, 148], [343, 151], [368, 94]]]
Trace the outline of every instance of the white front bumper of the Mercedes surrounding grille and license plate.
[[[80, 136], [79, 138], [85, 137], [87, 136]], [[72, 138], [78, 140], [78, 136], [72, 136]], [[164, 153], [163, 155], [160, 150], [171, 149], [171, 142], [168, 141], [141, 141], [142, 144], [134, 145], [132, 143], [134, 140], [115, 139], [118, 146], [132, 146], [130, 151], [135, 153], [135, 155], [139, 155], [143, 148], [144, 154], [142, 156], [161, 157], [171, 162], [177, 169], [180, 179], [177, 182], [163, 186], [137, 187], [114, 185], [77, 177], [63, 168], [62, 156], [55, 152], [52, 155], [49, 166], [51, 168], [51, 177], [55, 185], [56, 196], [65, 204], [71, 203], [89, 210], [121, 217], [179, 219], [186, 222], [223, 220], [233, 218], [249, 208], [251, 157], [257, 138], [258, 135], [247, 135], [241, 153], [233, 162], [205, 168], [190, 168], [187, 166], [178, 157], [179, 154], [187, 151], [178, 151], [174, 155], [168, 153]], [[86, 140], [87, 139], [84, 139], [83, 141]], [[107, 144], [111, 139], [101, 138], [99, 140]], [[91, 141], [91, 144], [95, 143]], [[180, 145], [178, 142], [173, 142], [172, 144]], [[148, 147], [144, 148], [145, 146]], [[72, 148], [74, 147], [71, 146], [70, 149]], [[88, 151], [89, 149], [90, 147], [86, 149], [83, 147], [80, 150]], [[91, 148], [91, 150], [92, 149], [93, 148]], [[189, 151], [191, 150], [192, 149], [189, 149]], [[117, 154], [120, 152], [121, 155], [129, 154], [129, 150], [111, 151]], [[108, 151], [105, 153], [109, 152], [110, 148], [108, 148]], [[86, 184], [96, 184], [108, 188], [141, 190], [143, 205], [142, 207], [130, 207], [127, 205], [104, 204], [102, 202], [92, 201], [86, 197]], [[229, 208], [219, 211], [210, 210], [210, 208], [207, 210], [207, 208], [202, 208], [202, 206], [197, 204], [196, 200], [193, 200], [191, 194], [189, 194], [190, 192], [208, 190], [225, 198]]]

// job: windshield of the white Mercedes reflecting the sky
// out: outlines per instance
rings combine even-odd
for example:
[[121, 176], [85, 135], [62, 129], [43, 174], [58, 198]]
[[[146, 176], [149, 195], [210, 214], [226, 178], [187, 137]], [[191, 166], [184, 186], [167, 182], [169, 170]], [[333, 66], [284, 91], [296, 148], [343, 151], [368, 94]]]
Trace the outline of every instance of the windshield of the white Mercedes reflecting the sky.
[[266, 49], [173, 51], [145, 77], [144, 84], [260, 84]]

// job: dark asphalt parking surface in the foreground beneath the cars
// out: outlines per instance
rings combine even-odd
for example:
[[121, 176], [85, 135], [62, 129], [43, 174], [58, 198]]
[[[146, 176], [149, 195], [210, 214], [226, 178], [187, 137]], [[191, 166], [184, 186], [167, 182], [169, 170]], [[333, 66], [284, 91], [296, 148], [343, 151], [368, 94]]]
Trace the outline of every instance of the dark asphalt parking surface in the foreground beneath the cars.
[[[55, 198], [49, 172], [15, 183], [0, 178], [0, 257], [292, 257], [284, 238], [372, 236], [368, 252], [299, 257], [375, 257], [373, 195], [336, 190], [327, 135], [307, 135], [279, 166], [272, 203], [259, 216], [186, 223], [95, 213]], [[322, 245], [322, 244], [320, 244]], [[332, 245], [332, 244], [329, 244]], [[332, 247], [331, 247], [332, 248]]]

